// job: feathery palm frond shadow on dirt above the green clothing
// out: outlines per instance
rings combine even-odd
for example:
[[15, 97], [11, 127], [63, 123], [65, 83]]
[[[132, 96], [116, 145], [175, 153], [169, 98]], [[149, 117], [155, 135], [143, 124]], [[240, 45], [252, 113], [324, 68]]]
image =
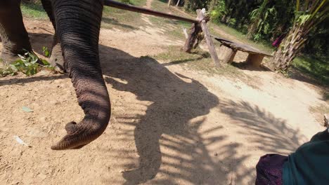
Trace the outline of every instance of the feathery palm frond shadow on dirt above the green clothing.
[[245, 128], [241, 134], [250, 135], [252, 142], [263, 151], [287, 155], [307, 141], [299, 130], [289, 128], [285, 120], [276, 118], [257, 105], [228, 101], [221, 102], [220, 107], [237, 125]]

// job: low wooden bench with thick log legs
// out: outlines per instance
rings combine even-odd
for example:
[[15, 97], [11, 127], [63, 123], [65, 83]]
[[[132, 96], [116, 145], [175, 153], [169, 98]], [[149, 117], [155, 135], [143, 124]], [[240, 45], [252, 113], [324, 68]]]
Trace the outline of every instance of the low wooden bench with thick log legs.
[[234, 43], [232, 41], [221, 39], [216, 36], [214, 36], [214, 39], [221, 43], [221, 53], [219, 54], [219, 59], [227, 64], [233, 62], [233, 59], [236, 56], [238, 50], [249, 53], [246, 62], [253, 67], [260, 67], [265, 56], [273, 57], [272, 55], [264, 53], [261, 50], [253, 48], [247, 44]]

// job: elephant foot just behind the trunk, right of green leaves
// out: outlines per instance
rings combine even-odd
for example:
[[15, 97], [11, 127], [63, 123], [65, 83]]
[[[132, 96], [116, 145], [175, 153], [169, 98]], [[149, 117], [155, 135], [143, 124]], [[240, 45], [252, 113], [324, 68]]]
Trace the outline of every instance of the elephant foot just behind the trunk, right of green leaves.
[[66, 73], [65, 63], [63, 59], [62, 50], [60, 49], [60, 44], [56, 44], [53, 46], [53, 50], [51, 51], [51, 57], [49, 59], [51, 66], [55, 67], [55, 70], [60, 73]]

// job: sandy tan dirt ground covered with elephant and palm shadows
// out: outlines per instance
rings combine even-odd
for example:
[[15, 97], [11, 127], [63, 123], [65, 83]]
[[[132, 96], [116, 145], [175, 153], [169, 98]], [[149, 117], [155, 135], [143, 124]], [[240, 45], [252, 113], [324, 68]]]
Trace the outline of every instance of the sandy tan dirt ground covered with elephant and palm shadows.
[[[134, 32], [101, 30], [112, 117], [82, 149], [50, 149], [83, 117], [67, 75], [0, 78], [0, 184], [254, 184], [260, 156], [324, 130], [309, 107], [326, 103], [308, 83], [238, 69], [253, 79], [245, 83], [143, 57], [183, 44], [145, 19]], [[25, 25], [37, 53], [50, 48], [49, 22]]]

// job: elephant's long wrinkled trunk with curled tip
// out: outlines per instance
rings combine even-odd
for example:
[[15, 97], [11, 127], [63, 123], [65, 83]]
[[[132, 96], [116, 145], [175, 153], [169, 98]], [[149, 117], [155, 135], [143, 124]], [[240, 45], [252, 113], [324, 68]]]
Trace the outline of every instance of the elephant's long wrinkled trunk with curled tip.
[[65, 67], [85, 116], [78, 124], [67, 123], [67, 135], [51, 149], [79, 149], [99, 137], [110, 120], [110, 98], [98, 56], [103, 2], [56, 0], [52, 6]]

